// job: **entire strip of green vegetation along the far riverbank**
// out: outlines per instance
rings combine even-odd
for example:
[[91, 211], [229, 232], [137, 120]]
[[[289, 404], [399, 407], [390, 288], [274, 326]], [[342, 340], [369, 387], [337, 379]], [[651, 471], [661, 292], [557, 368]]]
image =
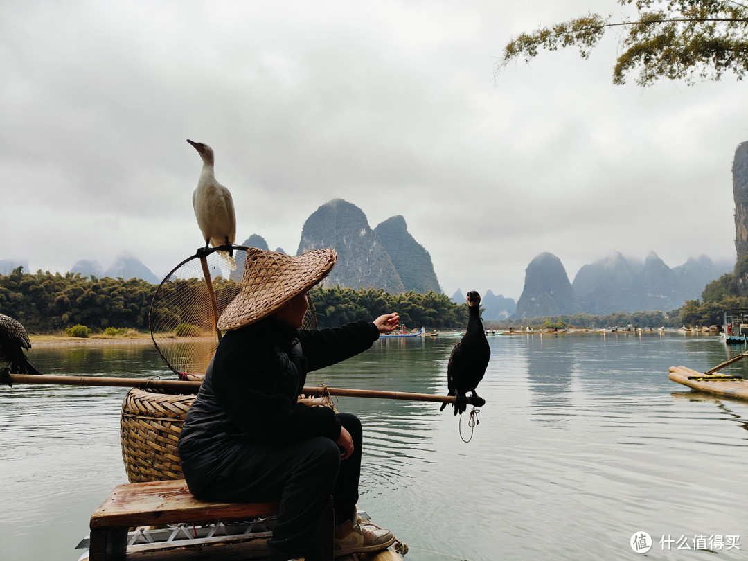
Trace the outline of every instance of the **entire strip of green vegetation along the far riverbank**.
[[[530, 325], [603, 328], [634, 325], [638, 328], [713, 325], [721, 323], [721, 310], [728, 302], [748, 304], [748, 298], [732, 297], [732, 274], [724, 275], [705, 289], [700, 301], [688, 301], [678, 310], [637, 313], [612, 313], [607, 316], [575, 314], [534, 319], [507, 319], [486, 325], [514, 328]], [[147, 332], [148, 312], [156, 285], [140, 279], [83, 277], [80, 274], [37, 271], [24, 273], [22, 267], [10, 275], [0, 275], [0, 313], [18, 319], [33, 334], [82, 334], [91, 337], [132, 337]], [[715, 303], [715, 298], [723, 298]], [[309, 292], [319, 327], [331, 327], [357, 319], [373, 319], [396, 311], [408, 328], [429, 331], [464, 328], [468, 323], [468, 305], [456, 304], [439, 292], [402, 292], [390, 294], [383, 289], [315, 287]], [[179, 310], [174, 310], [179, 314]], [[718, 317], [719, 316], [719, 317]], [[79, 327], [80, 326], [80, 327]], [[73, 329], [71, 329], [73, 328]], [[85, 328], [90, 329], [86, 331]], [[80, 335], [78, 335], [80, 337]]]

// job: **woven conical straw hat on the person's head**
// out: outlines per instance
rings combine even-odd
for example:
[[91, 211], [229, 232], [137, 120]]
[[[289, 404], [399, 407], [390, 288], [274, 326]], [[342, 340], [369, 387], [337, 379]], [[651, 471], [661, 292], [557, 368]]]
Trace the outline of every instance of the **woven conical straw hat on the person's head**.
[[335, 260], [334, 249], [316, 249], [292, 257], [248, 248], [242, 286], [218, 318], [218, 329], [239, 329], [277, 312], [329, 275]]

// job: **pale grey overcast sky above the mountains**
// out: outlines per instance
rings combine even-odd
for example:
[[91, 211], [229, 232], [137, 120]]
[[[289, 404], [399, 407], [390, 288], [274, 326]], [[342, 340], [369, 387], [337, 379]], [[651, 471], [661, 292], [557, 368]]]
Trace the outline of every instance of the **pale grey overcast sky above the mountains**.
[[65, 272], [128, 252], [159, 278], [201, 245], [200, 156], [253, 233], [295, 254], [340, 197], [403, 215], [438, 280], [518, 299], [620, 251], [735, 259], [748, 84], [614, 86], [617, 35], [494, 76], [514, 34], [613, 0], [34, 1], [0, 18], [0, 259]]

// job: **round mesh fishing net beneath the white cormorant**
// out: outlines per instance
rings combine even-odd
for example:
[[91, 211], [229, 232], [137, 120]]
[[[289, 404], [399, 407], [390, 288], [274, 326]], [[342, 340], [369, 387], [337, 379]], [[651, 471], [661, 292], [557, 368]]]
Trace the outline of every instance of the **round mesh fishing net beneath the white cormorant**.
[[[200, 248], [174, 267], [156, 288], [148, 312], [150, 337], [165, 364], [182, 379], [199, 380], [221, 341], [221, 313], [239, 293], [247, 247]], [[230, 269], [227, 254], [236, 269]], [[316, 327], [309, 302], [304, 329]]]

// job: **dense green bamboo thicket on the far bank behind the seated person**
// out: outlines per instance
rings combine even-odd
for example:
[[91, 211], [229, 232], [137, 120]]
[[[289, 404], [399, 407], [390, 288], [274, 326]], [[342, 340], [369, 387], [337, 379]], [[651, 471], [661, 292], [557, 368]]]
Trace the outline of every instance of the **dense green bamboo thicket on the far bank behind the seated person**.
[[[165, 290], [188, 290], [197, 279], [167, 283]], [[231, 281], [216, 278], [216, 295], [228, 289]], [[18, 319], [31, 333], [52, 333], [76, 324], [94, 331], [108, 326], [148, 329], [156, 285], [140, 279], [96, 278], [66, 273], [37, 271], [24, 273], [18, 267], [10, 275], [0, 275], [0, 313]], [[319, 327], [334, 327], [357, 319], [371, 320], [384, 313], [397, 312], [401, 323], [419, 328], [459, 328], [468, 323], [467, 304], [455, 304], [449, 296], [436, 292], [404, 292], [391, 295], [383, 289], [316, 287], [310, 291]], [[162, 301], [167, 298], [162, 298]], [[171, 314], [175, 322], [188, 316], [188, 304], [175, 299]]]

